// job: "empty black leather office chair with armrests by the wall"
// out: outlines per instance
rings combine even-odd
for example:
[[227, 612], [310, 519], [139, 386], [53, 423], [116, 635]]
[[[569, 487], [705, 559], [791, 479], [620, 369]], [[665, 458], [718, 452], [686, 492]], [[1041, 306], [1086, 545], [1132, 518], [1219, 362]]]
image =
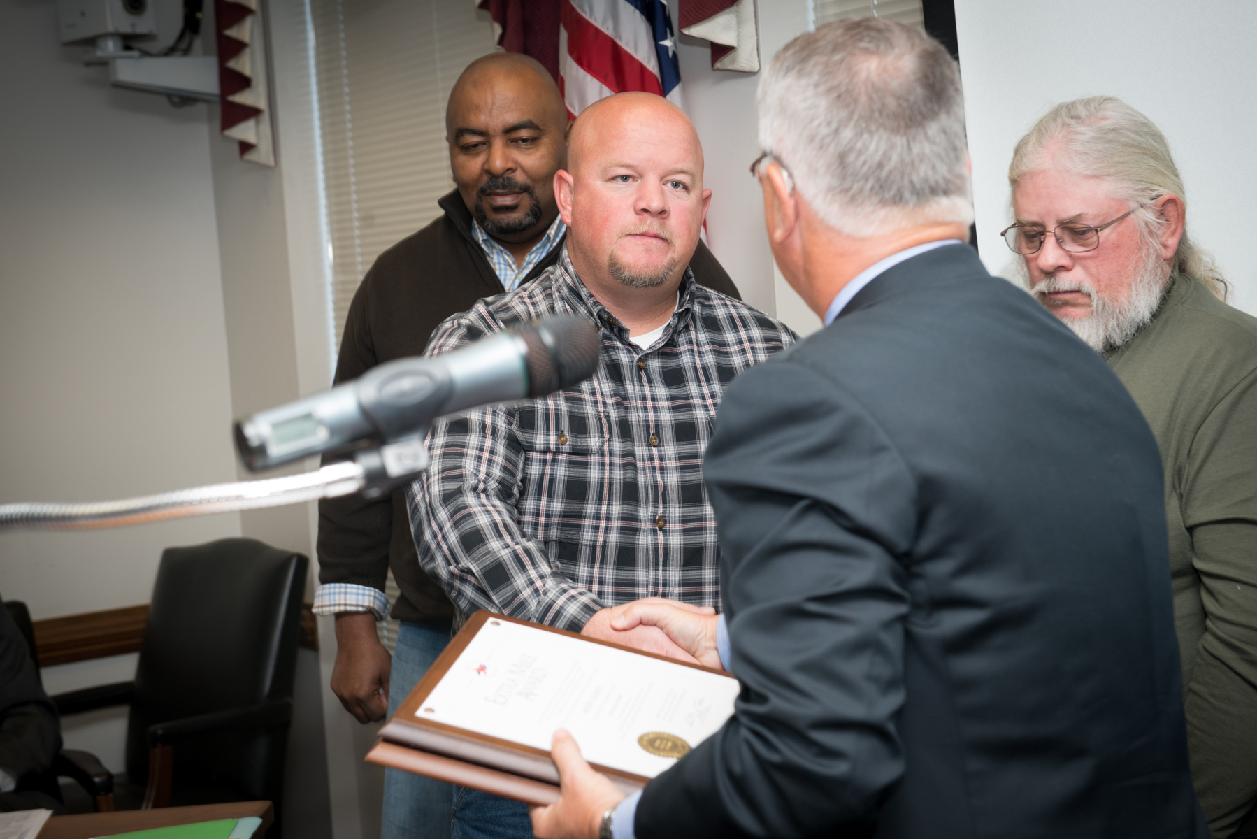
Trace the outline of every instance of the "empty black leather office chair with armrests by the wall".
[[131, 706], [117, 809], [265, 799], [280, 835], [308, 566], [250, 538], [162, 553], [134, 682], [53, 697], [62, 716]]

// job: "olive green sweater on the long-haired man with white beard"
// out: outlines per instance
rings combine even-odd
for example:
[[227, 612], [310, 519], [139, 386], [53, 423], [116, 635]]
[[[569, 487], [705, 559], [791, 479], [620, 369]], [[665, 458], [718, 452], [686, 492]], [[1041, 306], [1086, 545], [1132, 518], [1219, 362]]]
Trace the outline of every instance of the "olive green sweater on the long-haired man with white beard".
[[1106, 356], [1161, 449], [1192, 776], [1231, 836], [1257, 801], [1257, 318], [1174, 274]]

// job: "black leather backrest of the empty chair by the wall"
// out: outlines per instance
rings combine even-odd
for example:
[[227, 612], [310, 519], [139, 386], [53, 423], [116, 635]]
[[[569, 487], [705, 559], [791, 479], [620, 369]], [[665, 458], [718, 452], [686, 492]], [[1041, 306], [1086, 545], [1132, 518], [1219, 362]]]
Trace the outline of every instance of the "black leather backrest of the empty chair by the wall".
[[[127, 725], [132, 780], [147, 779], [148, 726], [292, 697], [308, 566], [300, 553], [251, 538], [162, 553]], [[176, 746], [176, 792], [212, 784], [278, 799], [287, 733]]]

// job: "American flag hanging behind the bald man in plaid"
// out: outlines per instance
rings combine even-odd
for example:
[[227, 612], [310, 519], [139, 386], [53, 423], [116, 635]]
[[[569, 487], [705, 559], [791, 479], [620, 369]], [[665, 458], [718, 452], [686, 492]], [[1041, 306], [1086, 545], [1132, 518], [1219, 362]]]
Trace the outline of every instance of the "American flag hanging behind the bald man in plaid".
[[679, 107], [681, 72], [665, 0], [561, 0], [558, 88], [568, 112], [645, 91]]

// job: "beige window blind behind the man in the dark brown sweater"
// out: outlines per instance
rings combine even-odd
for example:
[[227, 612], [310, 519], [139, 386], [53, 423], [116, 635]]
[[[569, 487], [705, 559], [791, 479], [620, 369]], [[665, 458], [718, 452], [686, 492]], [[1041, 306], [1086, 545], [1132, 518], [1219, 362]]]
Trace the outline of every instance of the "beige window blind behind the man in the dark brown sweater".
[[454, 187], [445, 102], [498, 48], [475, 0], [310, 0], [310, 20], [339, 347], [376, 257], [441, 214]]

